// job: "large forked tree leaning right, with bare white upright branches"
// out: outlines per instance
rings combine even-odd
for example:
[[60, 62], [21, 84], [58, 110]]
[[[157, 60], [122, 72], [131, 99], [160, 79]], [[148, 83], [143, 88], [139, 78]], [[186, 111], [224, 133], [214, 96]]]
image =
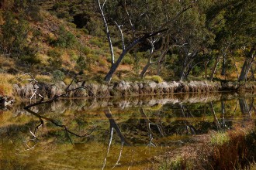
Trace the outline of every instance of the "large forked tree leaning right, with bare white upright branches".
[[[140, 42], [144, 42], [150, 37], [157, 36], [159, 33], [167, 30], [161, 28], [150, 32], [147, 29], [145, 22], [141, 22], [144, 17], [145, 11], [147, 11], [147, 3], [144, 1], [108, 1], [101, 2], [98, 0], [99, 12], [102, 16], [102, 22], [105, 26], [106, 36], [109, 42], [109, 49], [112, 58], [112, 65], [109, 73], [106, 74], [104, 80], [110, 82], [116, 69], [119, 67], [123, 58], [130, 52], [133, 47], [137, 46]], [[107, 11], [107, 13], [105, 12]], [[119, 37], [122, 43], [122, 53], [115, 59], [111, 30], [109, 30], [109, 24], [116, 25], [119, 30]], [[127, 44], [127, 45], [126, 45]]]

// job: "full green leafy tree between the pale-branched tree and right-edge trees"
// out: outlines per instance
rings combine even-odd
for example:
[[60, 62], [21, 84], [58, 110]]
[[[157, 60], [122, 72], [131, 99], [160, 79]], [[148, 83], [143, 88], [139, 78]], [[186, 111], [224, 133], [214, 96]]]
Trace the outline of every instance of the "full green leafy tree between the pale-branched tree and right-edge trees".
[[184, 80], [195, 66], [207, 60], [203, 53], [213, 44], [214, 35], [206, 29], [206, 16], [201, 11], [200, 4], [177, 19], [173, 29], [175, 32], [171, 38], [176, 44], [173, 53], [178, 55], [176, 74], [179, 80]]

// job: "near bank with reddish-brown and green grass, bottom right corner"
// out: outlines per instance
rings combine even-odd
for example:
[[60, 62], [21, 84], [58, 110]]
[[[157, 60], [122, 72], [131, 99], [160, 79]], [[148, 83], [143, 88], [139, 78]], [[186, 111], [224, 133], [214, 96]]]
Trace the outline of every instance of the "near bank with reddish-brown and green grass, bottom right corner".
[[189, 144], [152, 158], [153, 169], [249, 169], [256, 158], [255, 123], [195, 135]]

